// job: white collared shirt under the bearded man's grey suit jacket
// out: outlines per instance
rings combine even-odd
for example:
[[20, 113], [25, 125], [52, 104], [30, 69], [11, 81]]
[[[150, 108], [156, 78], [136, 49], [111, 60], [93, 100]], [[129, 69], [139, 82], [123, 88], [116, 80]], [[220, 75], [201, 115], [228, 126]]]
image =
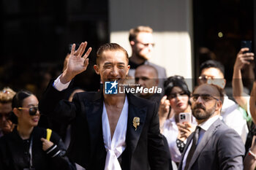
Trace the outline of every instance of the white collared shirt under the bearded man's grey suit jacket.
[[[212, 123], [214, 123], [217, 119], [219, 119], [219, 115], [216, 115], [214, 117], [209, 118], [208, 120], [206, 120], [205, 122], [199, 124], [198, 126], [200, 126], [200, 132], [198, 135], [198, 141], [197, 144], [200, 143], [201, 139], [203, 138], [203, 135], [206, 133], [206, 131], [208, 130], [208, 128], [210, 128], [210, 126], [212, 125]], [[187, 161], [187, 155], [189, 154], [189, 150], [192, 147], [192, 142], [193, 139], [191, 140], [191, 142], [189, 143], [189, 147], [187, 147], [186, 152], [184, 152], [184, 158], [182, 161], [182, 170], [185, 169], [186, 166], [186, 161]]]

